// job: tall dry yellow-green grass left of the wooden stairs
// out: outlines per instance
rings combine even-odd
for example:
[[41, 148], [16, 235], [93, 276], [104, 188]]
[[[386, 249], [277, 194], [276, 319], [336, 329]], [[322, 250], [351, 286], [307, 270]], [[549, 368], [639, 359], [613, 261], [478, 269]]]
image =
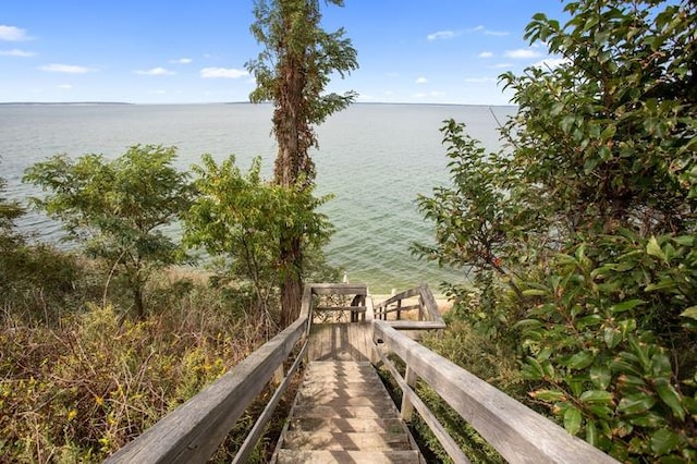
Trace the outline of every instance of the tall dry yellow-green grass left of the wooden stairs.
[[99, 462], [273, 330], [246, 310], [244, 289], [181, 271], [160, 276], [147, 318], [132, 320], [118, 282], [105, 300], [100, 270], [78, 269], [50, 298], [29, 284], [3, 297], [0, 461]]

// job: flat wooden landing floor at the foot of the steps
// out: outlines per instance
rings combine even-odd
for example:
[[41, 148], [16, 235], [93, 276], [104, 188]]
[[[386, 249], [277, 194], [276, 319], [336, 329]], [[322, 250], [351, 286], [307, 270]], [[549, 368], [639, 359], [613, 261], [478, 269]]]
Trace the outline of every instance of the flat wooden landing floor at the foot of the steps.
[[309, 361], [370, 361], [370, 322], [315, 323], [308, 342]]

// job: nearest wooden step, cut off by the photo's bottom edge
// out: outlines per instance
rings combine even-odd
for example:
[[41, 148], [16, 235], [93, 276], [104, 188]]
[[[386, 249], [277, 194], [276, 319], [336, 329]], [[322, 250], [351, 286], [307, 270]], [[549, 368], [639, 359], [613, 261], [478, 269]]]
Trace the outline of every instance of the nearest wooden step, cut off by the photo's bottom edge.
[[420, 463], [419, 453], [408, 451], [280, 450], [279, 464], [412, 464]]

